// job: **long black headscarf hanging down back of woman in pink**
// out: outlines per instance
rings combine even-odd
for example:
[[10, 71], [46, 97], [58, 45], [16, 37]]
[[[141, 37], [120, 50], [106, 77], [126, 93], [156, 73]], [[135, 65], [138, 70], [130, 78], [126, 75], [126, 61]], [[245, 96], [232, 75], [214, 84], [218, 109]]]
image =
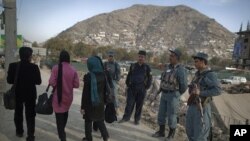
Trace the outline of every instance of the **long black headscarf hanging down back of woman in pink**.
[[62, 62], [70, 62], [69, 53], [65, 50], [61, 51], [58, 64], [58, 75], [57, 75], [57, 100], [58, 104], [61, 105], [62, 102]]

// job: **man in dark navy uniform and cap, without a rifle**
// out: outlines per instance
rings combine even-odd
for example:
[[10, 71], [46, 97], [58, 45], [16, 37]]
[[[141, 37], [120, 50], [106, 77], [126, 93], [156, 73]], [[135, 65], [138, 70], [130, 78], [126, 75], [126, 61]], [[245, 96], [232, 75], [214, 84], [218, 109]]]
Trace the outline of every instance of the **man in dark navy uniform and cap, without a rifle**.
[[119, 123], [130, 120], [131, 114], [135, 106], [134, 123], [139, 124], [141, 119], [141, 111], [144, 103], [146, 91], [152, 83], [152, 75], [150, 67], [145, 63], [146, 52], [139, 51], [138, 61], [131, 64], [126, 85], [127, 89], [127, 104], [122, 120]]

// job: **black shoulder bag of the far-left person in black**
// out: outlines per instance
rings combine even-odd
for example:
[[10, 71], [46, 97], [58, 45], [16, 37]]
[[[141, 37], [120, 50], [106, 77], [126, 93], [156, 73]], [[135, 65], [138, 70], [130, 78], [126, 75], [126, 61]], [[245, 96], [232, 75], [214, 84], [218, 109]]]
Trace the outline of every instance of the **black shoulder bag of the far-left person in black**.
[[3, 94], [3, 102], [5, 109], [14, 110], [16, 108], [16, 84], [18, 80], [20, 63], [17, 64], [16, 74], [13, 86]]

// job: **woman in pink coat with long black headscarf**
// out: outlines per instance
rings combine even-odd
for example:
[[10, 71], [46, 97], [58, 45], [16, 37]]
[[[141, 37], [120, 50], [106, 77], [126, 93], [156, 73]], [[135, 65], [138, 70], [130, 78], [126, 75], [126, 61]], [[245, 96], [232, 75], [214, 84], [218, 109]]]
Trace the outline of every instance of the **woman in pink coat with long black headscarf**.
[[70, 56], [67, 51], [61, 51], [59, 64], [52, 68], [49, 84], [55, 89], [52, 106], [56, 115], [58, 136], [61, 141], [66, 141], [65, 126], [73, 101], [73, 88], [79, 87], [79, 77], [70, 65]]

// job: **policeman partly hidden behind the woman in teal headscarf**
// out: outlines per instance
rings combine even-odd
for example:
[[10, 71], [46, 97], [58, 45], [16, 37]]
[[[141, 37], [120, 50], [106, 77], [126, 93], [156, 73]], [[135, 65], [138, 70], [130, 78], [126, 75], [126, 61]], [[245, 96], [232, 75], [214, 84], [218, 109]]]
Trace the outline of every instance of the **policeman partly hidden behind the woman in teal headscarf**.
[[114, 105], [116, 108], [116, 112], [118, 113], [118, 108], [119, 108], [119, 102], [118, 102], [118, 82], [121, 78], [121, 69], [120, 65], [114, 60], [114, 52], [109, 51], [108, 52], [108, 61], [104, 62], [104, 69], [110, 74], [110, 77], [113, 80], [113, 85], [114, 85], [114, 94], [115, 94], [115, 101]]

